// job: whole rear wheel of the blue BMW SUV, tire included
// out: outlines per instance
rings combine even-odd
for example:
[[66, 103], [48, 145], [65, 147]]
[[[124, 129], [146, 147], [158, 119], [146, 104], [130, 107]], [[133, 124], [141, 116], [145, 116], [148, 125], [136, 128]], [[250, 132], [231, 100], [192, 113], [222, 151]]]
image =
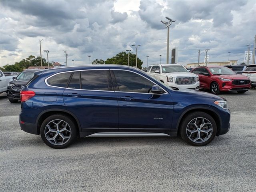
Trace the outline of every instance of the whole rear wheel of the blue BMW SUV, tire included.
[[74, 122], [62, 114], [46, 118], [40, 128], [40, 135], [44, 143], [55, 149], [68, 147], [76, 139], [76, 134]]

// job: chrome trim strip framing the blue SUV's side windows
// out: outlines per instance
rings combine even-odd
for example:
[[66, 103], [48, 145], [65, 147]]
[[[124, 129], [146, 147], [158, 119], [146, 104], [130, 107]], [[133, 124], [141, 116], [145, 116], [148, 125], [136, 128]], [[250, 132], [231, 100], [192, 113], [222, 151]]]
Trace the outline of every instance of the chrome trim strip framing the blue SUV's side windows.
[[[90, 89], [73, 89], [73, 88], [65, 88], [65, 87], [58, 87], [58, 86], [53, 86], [53, 85], [49, 85], [47, 80], [55, 75], [58, 75], [58, 74], [62, 74], [62, 73], [68, 73], [68, 72], [77, 72], [77, 71], [91, 71], [91, 70], [122, 70], [122, 71], [129, 71], [129, 72], [133, 72], [133, 73], [136, 73], [140, 76], [142, 76], [141, 74], [137, 73], [137, 72], [134, 72], [134, 71], [130, 71], [130, 70], [125, 70], [125, 69], [82, 69], [82, 70], [72, 70], [72, 71], [64, 71], [64, 72], [59, 72], [59, 73], [56, 73], [56, 74], [52, 74], [51, 76], [49, 76], [48, 78], [46, 78], [44, 80], [45, 84], [49, 87], [56, 87], [56, 88], [62, 88], [62, 89], [70, 89], [70, 90], [83, 90], [83, 91], [103, 91], [103, 92], [120, 92], [120, 93], [137, 93], [137, 94], [150, 94], [150, 95], [164, 95], [164, 94], [168, 94], [168, 92], [162, 88], [162, 86], [160, 86], [162, 88], [162, 90], [164, 90], [165, 93], [162, 93], [162, 94], [157, 94], [157, 93], [140, 93], [140, 92], [123, 92], [123, 91], [106, 91], [106, 90], [90, 90]], [[144, 78], [146, 78], [145, 76], [142, 76]], [[151, 81], [152, 83], [154, 83], [152, 80], [146, 78], [147, 80]], [[154, 83], [154, 85], [157, 85]]]

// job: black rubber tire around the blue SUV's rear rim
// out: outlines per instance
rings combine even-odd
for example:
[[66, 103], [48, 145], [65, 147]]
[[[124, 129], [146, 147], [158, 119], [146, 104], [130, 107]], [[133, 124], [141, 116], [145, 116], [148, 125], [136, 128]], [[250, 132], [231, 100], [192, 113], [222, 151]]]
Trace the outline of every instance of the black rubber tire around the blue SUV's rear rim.
[[[59, 133], [57, 133], [57, 132], [56, 133], [54, 133], [54, 132], [49, 133], [49, 134], [52, 134], [51, 135], [52, 137], [57, 135], [56, 140], [54, 139], [55, 144], [53, 144], [53, 141], [51, 143], [48, 140], [49, 138], [51, 138], [51, 137], [49, 137], [49, 134], [45, 134], [45, 132], [50, 131], [48, 128], [46, 128], [46, 125], [52, 123], [52, 121], [54, 121], [54, 120], [56, 120], [56, 121], [60, 120], [61, 121], [60, 125], [66, 123], [66, 124], [68, 124], [67, 127], [69, 127], [68, 130], [64, 131], [64, 132], [59, 131]], [[54, 128], [52, 130], [54, 130]], [[55, 129], [55, 130], [58, 131], [57, 129]], [[68, 134], [68, 137], [70, 137], [70, 138], [66, 139], [66, 140], [63, 139], [65, 141], [64, 144], [60, 144], [60, 143], [58, 143], [58, 141], [60, 141], [60, 139], [62, 139], [60, 134]], [[49, 147], [54, 148], [54, 149], [63, 149], [63, 148], [68, 147], [70, 144], [72, 144], [74, 142], [74, 140], [76, 139], [76, 136], [77, 136], [77, 130], [76, 130], [75, 123], [68, 116], [62, 115], [62, 114], [55, 114], [55, 115], [49, 116], [48, 118], [46, 118], [44, 120], [44, 122], [42, 123], [42, 125], [40, 127], [40, 135], [41, 135], [41, 138], [44, 141], [44, 143], [46, 145], [48, 145]], [[46, 138], [46, 135], [47, 135], [48, 139]], [[64, 135], [64, 136], [66, 136], [66, 135]], [[57, 141], [57, 143], [56, 143], [56, 141]]]

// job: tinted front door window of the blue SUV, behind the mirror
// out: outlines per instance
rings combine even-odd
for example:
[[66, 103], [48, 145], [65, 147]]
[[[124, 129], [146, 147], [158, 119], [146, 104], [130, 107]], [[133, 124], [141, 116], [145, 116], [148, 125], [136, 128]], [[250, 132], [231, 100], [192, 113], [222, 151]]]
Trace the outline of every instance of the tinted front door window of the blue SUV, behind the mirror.
[[148, 93], [151, 87], [154, 85], [154, 83], [140, 76], [139, 74], [121, 70], [113, 71], [119, 91]]

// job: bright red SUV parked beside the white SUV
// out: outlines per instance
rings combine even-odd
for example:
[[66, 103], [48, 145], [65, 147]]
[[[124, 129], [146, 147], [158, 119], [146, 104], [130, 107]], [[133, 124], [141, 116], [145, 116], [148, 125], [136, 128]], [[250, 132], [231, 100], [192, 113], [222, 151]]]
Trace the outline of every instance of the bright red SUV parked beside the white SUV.
[[196, 67], [191, 72], [198, 74], [200, 88], [208, 89], [213, 94], [219, 94], [221, 91], [244, 93], [251, 88], [251, 81], [248, 77], [236, 74], [224, 66]]

